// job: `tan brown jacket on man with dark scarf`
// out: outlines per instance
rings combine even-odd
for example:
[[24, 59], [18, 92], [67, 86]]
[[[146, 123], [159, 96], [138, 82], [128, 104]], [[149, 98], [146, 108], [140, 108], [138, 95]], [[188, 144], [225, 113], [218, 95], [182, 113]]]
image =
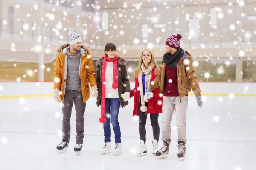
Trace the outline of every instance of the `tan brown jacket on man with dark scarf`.
[[[184, 62], [184, 60], [188, 60]], [[158, 73], [157, 78], [154, 80], [154, 85], [151, 85], [149, 88], [153, 91], [155, 88], [160, 86], [160, 94], [164, 93], [164, 87], [166, 83], [166, 64], [163, 62], [162, 70]], [[195, 75], [195, 68], [193, 66], [193, 60], [191, 55], [185, 51], [183, 57], [178, 62], [177, 65], [177, 86], [180, 97], [186, 96], [191, 89], [194, 91], [195, 96], [201, 96], [201, 90], [198, 83], [198, 78]]]

